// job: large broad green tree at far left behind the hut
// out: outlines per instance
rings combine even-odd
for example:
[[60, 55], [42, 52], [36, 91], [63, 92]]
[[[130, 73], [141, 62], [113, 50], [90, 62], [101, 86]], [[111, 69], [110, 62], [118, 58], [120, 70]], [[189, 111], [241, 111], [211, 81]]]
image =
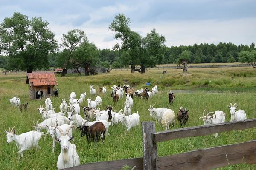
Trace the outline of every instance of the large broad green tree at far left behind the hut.
[[[9, 55], [8, 68], [26, 70], [49, 67], [47, 55], [57, 48], [55, 35], [41, 17], [31, 20], [26, 15], [14, 13], [0, 24], [0, 50]], [[17, 68], [17, 66], [19, 66]], [[15, 68], [11, 68], [15, 66]]]

